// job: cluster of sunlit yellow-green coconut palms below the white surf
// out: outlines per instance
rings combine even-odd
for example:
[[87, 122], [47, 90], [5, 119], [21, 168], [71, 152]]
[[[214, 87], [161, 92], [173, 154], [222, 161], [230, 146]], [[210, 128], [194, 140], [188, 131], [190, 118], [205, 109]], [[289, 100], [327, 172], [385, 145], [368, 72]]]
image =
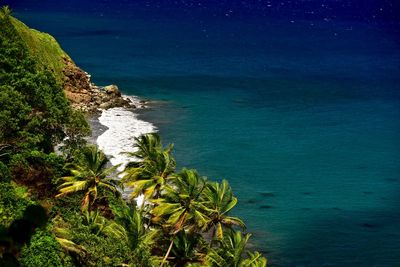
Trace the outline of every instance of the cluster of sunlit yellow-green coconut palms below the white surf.
[[[60, 244], [80, 264], [108, 264], [88, 243], [104, 238], [113, 240], [107, 243], [113, 264], [266, 266], [260, 253], [246, 250], [250, 234], [242, 232], [243, 221], [229, 215], [237, 198], [226, 180], [211, 182], [193, 169], [176, 171], [172, 145], [163, 147], [156, 133], [136, 138], [134, 146], [122, 184], [96, 146], [82, 148], [80, 159], [66, 165], [72, 176], [60, 178], [56, 197], [74, 197], [79, 209], [72, 216], [58, 213], [55, 234], [64, 232]], [[119, 186], [132, 190], [129, 200], [117, 193]], [[140, 195], [144, 201], [137, 207]]]

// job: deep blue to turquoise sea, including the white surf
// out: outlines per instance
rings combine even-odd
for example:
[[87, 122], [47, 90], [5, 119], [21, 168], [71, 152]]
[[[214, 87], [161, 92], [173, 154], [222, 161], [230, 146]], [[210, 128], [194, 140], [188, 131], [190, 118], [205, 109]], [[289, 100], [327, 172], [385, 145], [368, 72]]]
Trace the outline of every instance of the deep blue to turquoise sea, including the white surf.
[[109, 155], [159, 131], [179, 168], [229, 180], [270, 266], [400, 266], [395, 1], [54, 2], [15, 15], [95, 83], [154, 101], [100, 117]]

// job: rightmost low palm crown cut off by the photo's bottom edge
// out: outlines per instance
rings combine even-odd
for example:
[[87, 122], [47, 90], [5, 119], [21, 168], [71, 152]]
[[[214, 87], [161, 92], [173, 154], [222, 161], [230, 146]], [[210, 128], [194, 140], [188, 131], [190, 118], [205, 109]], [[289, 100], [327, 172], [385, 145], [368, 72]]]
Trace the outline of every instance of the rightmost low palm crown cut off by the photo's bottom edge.
[[258, 252], [248, 252], [249, 257], [243, 258], [250, 236], [250, 234], [242, 234], [240, 231], [226, 231], [224, 238], [219, 241], [219, 248], [212, 248], [208, 253], [206, 257], [208, 266], [265, 267], [267, 260]]

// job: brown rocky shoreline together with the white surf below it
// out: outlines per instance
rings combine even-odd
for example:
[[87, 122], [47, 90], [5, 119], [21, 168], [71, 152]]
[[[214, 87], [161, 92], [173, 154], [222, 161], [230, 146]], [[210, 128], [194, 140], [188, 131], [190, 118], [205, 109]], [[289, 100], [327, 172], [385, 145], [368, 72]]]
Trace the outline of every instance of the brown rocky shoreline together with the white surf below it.
[[[123, 95], [115, 84], [98, 86], [91, 81], [91, 74], [69, 58], [63, 58], [65, 68], [64, 93], [71, 107], [86, 114], [91, 134], [85, 139], [97, 145], [107, 156], [110, 166], [118, 166], [115, 175], [122, 172], [130, 161], [126, 152], [133, 152], [134, 138], [156, 132], [150, 122], [138, 118], [135, 110], [147, 108], [148, 101], [137, 96]], [[128, 199], [131, 189], [122, 189], [122, 197]], [[143, 197], [135, 199], [141, 205]]]

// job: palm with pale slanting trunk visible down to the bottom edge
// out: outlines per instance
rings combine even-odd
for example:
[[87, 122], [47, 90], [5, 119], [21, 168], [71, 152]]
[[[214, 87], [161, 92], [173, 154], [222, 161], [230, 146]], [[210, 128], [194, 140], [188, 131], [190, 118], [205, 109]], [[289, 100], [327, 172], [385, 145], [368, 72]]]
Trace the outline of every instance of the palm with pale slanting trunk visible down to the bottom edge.
[[153, 200], [157, 206], [151, 211], [153, 222], [162, 221], [162, 225], [172, 234], [171, 243], [164, 256], [168, 258], [174, 243], [174, 236], [181, 230], [191, 233], [206, 228], [209, 218], [204, 214], [205, 207], [202, 194], [206, 188], [206, 180], [196, 170], [183, 169], [171, 184], [164, 186], [161, 198]]

